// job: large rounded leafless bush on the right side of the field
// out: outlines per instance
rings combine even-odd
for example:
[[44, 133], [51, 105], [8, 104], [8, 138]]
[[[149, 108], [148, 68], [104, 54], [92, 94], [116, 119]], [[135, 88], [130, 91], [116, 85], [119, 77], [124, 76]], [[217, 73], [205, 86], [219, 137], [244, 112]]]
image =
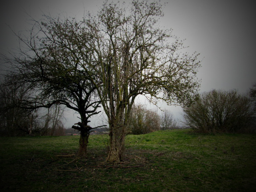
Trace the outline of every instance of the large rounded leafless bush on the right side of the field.
[[253, 120], [252, 102], [236, 90], [212, 90], [184, 107], [185, 124], [201, 133], [243, 132]]

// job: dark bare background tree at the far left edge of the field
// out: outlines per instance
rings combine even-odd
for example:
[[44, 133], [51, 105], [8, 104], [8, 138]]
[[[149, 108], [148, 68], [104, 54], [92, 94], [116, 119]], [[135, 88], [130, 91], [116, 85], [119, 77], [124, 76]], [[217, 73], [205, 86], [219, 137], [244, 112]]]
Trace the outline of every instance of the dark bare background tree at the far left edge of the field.
[[5, 136], [24, 136], [38, 134], [41, 130], [37, 110], [21, 108], [21, 100], [30, 97], [26, 86], [10, 84], [12, 79], [0, 82], [0, 134]]

